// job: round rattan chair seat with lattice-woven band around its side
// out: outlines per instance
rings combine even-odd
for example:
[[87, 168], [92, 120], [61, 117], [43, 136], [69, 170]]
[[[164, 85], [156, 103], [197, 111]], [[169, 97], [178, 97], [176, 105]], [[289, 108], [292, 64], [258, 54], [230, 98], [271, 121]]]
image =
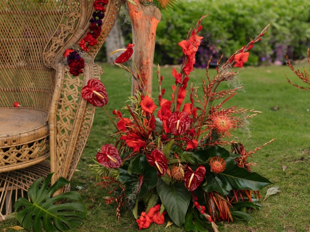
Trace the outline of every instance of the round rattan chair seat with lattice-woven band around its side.
[[47, 115], [32, 108], [0, 109], [0, 173], [49, 157]]

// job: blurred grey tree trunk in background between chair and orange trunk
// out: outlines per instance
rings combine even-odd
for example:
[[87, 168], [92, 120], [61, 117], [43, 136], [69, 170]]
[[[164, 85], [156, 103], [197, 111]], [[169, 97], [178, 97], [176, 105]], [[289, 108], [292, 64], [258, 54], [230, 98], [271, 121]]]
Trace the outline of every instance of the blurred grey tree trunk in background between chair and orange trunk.
[[107, 62], [112, 64], [114, 60], [120, 55], [120, 53], [114, 53], [110, 56], [110, 53], [119, 48], [125, 48], [123, 33], [119, 19], [116, 20], [113, 28], [111, 29], [106, 41], [106, 53], [107, 53]]

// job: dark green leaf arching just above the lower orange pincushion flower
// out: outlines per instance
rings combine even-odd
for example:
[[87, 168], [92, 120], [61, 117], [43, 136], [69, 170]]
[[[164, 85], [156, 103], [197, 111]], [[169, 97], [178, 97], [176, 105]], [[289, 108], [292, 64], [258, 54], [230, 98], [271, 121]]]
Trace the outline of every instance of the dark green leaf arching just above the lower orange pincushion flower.
[[192, 155], [192, 157], [196, 158], [200, 164], [209, 162], [211, 157], [215, 156], [223, 159], [230, 157], [229, 151], [220, 146], [212, 146], [205, 150], [197, 150]]

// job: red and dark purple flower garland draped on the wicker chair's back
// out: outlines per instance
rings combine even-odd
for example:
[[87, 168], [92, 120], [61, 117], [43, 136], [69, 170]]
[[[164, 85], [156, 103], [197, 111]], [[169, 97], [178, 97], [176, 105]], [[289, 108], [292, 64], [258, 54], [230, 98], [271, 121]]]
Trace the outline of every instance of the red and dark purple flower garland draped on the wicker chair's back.
[[95, 12], [93, 12], [93, 17], [90, 19], [91, 26], [90, 31], [87, 32], [86, 36], [78, 42], [81, 50], [67, 49], [63, 53], [63, 57], [67, 58], [68, 66], [70, 68], [70, 73], [73, 76], [78, 76], [83, 73], [83, 68], [85, 67], [85, 61], [81, 58], [81, 51], [88, 52], [89, 46], [94, 46], [98, 43], [96, 40], [101, 34], [102, 19], [105, 17], [104, 12], [106, 9], [104, 6], [108, 3], [108, 0], [95, 0], [93, 7]]

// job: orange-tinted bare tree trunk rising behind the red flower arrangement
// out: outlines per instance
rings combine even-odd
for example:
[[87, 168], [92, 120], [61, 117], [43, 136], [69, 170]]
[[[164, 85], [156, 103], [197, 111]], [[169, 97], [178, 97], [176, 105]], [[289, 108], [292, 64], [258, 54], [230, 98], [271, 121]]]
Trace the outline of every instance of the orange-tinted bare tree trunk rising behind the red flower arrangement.
[[[152, 95], [156, 28], [161, 19], [161, 13], [155, 5], [144, 6], [140, 3], [140, 0], [133, 1], [137, 6], [127, 2], [132, 26], [132, 38], [135, 44], [133, 60], [137, 65], [145, 90]], [[132, 96], [134, 96], [136, 89], [138, 89], [138, 83], [133, 79]]]

